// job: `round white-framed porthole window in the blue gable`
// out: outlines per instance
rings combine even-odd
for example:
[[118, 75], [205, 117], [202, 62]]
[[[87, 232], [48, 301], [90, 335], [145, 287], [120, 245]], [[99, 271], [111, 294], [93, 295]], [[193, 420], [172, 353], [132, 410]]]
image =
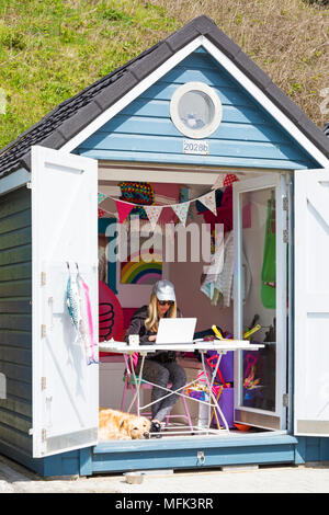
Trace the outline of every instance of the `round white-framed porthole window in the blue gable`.
[[222, 103], [209, 85], [188, 82], [173, 93], [170, 116], [175, 127], [189, 138], [206, 138], [220, 124]]

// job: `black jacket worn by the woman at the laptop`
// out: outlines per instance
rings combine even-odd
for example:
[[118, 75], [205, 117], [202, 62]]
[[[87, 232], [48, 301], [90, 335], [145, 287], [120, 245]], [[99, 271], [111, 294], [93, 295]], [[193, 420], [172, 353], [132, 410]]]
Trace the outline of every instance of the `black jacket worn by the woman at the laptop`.
[[[179, 308], [177, 309], [177, 316], [182, 317], [182, 313], [179, 310]], [[145, 320], [147, 318], [148, 318], [148, 306], [143, 306], [141, 308], [137, 309], [137, 311], [135, 311], [131, 320], [131, 325], [127, 329], [127, 332], [125, 335], [125, 342], [128, 342], [131, 334], [139, 334], [139, 345], [154, 345], [155, 344], [155, 342], [150, 342], [148, 340], [148, 337], [154, 336], [155, 333], [146, 329]], [[160, 363], [174, 362], [175, 352], [156, 351], [155, 354], [152, 353], [148, 355], [147, 358], [155, 359]]]

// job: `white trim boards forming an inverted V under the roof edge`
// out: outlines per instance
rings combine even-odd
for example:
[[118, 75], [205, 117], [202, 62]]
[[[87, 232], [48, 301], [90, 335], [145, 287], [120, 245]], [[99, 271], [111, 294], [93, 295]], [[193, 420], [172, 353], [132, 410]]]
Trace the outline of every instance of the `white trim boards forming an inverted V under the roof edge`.
[[213, 43], [205, 36], [198, 36], [193, 42], [189, 43], [185, 47], [178, 50], [164, 64], [160, 65], [147, 78], [143, 79], [135, 85], [128, 93], [120, 99], [115, 104], [99, 115], [91, 124], [77, 134], [72, 139], [61, 147], [61, 150], [71, 152], [79, 145], [81, 145], [88, 137], [94, 134], [100, 127], [109, 122], [113, 116], [120, 113], [126, 105], [133, 102], [144, 91], [150, 88], [156, 81], [163, 77], [174, 66], [181, 62], [185, 57], [192, 54], [198, 47], [207, 50], [212, 57], [222, 65], [228, 73], [234, 77], [239, 83], [259, 102], [273, 118], [287, 130], [293, 138], [305, 150], [314, 157], [324, 168], [329, 165], [329, 159], [305, 136], [298, 127], [290, 121], [290, 118], [274, 105], [274, 103], [258, 88], [222, 50], [219, 50]]

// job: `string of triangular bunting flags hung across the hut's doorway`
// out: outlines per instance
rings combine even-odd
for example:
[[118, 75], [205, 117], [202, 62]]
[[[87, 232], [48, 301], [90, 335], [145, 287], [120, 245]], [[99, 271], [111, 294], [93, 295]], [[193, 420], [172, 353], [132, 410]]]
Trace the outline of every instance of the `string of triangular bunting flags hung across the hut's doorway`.
[[[113, 198], [104, 193], [99, 193], [98, 194], [98, 203], [99, 205], [102, 204], [104, 201], [107, 198], [111, 198], [112, 201], [115, 201], [116, 204], [116, 210], [118, 215], [120, 222], [123, 224], [125, 219], [128, 217], [129, 213], [134, 207], [143, 207], [145, 210], [149, 222], [151, 225], [151, 228], [155, 229], [156, 225], [159, 220], [159, 217], [161, 215], [162, 209], [171, 208], [178, 218], [180, 219], [181, 224], [185, 225], [186, 224], [186, 217], [189, 214], [189, 208], [190, 204], [192, 202], [201, 202], [207, 209], [209, 209], [214, 215], [217, 214], [217, 206], [216, 206], [216, 190], [220, 187], [226, 187], [230, 186], [234, 182], [238, 181], [238, 178], [235, 173], [226, 173], [224, 174], [218, 174], [214, 185], [212, 186], [212, 191], [201, 195], [197, 198], [193, 198], [191, 201], [185, 201], [180, 204], [168, 204], [163, 206], [156, 206], [156, 205], [143, 205], [140, 204], [135, 204], [132, 202], [126, 202], [126, 201], [120, 201], [117, 198]], [[102, 207], [99, 207], [99, 218], [104, 216], [105, 214], [109, 214], [105, 209]]]

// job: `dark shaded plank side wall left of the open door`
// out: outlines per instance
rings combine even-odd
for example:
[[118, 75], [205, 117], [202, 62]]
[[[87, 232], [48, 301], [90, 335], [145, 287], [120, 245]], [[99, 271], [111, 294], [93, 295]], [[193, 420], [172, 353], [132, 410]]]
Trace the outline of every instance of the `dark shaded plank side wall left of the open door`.
[[0, 444], [32, 456], [32, 230], [31, 192], [0, 199]]

